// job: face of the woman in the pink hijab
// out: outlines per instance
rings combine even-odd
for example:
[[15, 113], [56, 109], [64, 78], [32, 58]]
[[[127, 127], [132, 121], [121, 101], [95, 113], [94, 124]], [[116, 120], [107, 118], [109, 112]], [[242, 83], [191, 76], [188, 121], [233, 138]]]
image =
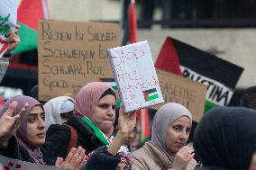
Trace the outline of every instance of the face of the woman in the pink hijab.
[[96, 104], [91, 117], [99, 130], [107, 133], [113, 128], [115, 119], [115, 97], [108, 94], [101, 98]]

